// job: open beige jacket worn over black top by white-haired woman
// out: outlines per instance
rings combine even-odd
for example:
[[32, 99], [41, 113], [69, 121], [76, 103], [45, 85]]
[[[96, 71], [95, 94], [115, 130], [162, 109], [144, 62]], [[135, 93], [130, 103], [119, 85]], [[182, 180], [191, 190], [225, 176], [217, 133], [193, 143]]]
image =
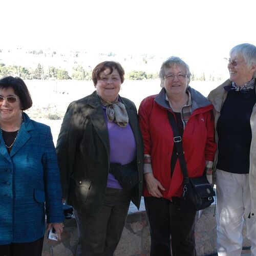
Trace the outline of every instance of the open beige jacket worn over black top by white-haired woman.
[[[223, 84], [221, 84], [216, 89], [212, 90], [208, 95], [208, 99], [214, 105], [214, 116], [215, 116], [215, 128], [217, 127], [217, 122], [220, 117], [221, 108], [227, 97], [227, 91], [224, 90], [225, 86], [231, 84], [228, 79]], [[253, 106], [251, 117], [251, 147], [250, 147], [250, 167], [249, 167], [249, 186], [251, 194], [251, 216], [254, 216], [256, 209], [256, 104]], [[215, 133], [216, 143], [218, 144], [218, 133]], [[218, 161], [218, 149], [215, 154], [214, 161], [214, 181], [216, 177], [216, 165]]]

